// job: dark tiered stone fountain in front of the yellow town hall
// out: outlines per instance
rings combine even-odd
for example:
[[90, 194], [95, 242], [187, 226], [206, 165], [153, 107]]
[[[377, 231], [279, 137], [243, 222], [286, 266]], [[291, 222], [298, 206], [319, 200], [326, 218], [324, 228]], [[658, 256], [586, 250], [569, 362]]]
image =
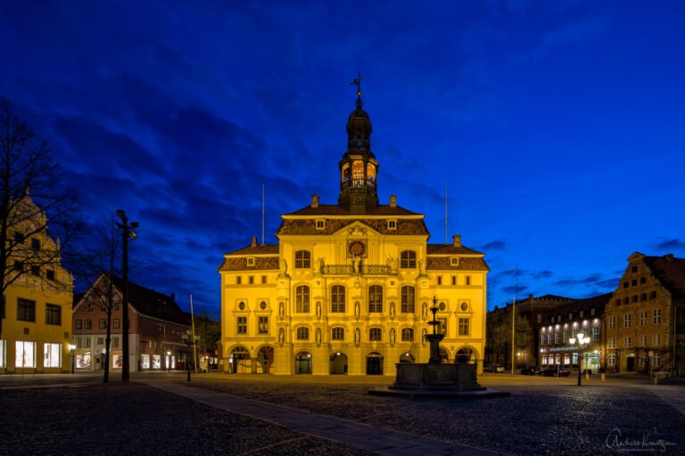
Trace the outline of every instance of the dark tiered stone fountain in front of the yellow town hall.
[[430, 343], [428, 362], [399, 362], [395, 382], [387, 387], [376, 387], [371, 395], [438, 395], [449, 397], [491, 397], [508, 395], [500, 391], [488, 390], [476, 381], [476, 364], [466, 362], [443, 363], [440, 356], [440, 341], [445, 337], [438, 333], [440, 322], [435, 318], [438, 312], [437, 299], [433, 297], [430, 308], [433, 320], [432, 334], [425, 335]]

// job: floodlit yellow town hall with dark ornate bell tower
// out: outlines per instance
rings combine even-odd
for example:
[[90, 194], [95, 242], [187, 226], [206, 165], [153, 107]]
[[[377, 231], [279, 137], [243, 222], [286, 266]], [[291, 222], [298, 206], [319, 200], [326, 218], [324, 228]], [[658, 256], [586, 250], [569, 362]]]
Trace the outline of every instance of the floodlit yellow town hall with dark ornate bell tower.
[[378, 204], [379, 164], [358, 95], [338, 204], [319, 205], [314, 195], [282, 216], [277, 245], [253, 239], [224, 256], [220, 370], [393, 376], [397, 362], [428, 361], [433, 303], [444, 362], [482, 360], [483, 254], [459, 236], [428, 244], [423, 215], [394, 197]]

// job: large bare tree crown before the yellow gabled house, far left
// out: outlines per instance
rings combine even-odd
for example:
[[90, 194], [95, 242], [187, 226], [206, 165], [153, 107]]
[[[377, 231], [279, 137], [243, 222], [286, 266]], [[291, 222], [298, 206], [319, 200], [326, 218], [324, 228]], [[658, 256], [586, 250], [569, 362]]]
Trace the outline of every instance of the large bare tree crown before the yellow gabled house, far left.
[[[76, 192], [45, 141], [0, 98], [0, 311], [5, 290], [26, 274], [62, 268], [62, 252], [82, 228]], [[49, 226], [48, 226], [49, 224]], [[30, 242], [29, 242], [30, 240]], [[41, 242], [40, 240], [45, 240]], [[40, 281], [71, 289], [69, 274]], [[0, 337], [2, 337], [0, 318]]]

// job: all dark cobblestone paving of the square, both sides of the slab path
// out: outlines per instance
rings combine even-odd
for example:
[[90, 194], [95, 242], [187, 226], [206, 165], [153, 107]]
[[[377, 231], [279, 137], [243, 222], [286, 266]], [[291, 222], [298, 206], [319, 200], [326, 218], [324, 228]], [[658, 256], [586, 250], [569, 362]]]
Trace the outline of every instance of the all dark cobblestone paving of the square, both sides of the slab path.
[[[680, 387], [526, 380], [496, 386], [509, 397], [445, 400], [367, 395], [377, 383], [363, 379], [227, 377], [192, 386], [505, 454], [685, 454], [685, 415], [669, 404]], [[136, 382], [41, 383], [0, 381], [0, 454], [373, 454]]]

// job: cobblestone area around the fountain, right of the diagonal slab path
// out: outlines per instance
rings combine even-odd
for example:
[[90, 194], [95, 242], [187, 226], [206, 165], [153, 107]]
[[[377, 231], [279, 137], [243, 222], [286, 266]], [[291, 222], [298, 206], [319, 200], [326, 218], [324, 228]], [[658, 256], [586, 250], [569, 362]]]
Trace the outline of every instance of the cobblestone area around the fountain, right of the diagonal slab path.
[[509, 397], [444, 400], [371, 396], [360, 384], [195, 386], [508, 454], [685, 454], [685, 415], [650, 387], [511, 385], [498, 387]]

